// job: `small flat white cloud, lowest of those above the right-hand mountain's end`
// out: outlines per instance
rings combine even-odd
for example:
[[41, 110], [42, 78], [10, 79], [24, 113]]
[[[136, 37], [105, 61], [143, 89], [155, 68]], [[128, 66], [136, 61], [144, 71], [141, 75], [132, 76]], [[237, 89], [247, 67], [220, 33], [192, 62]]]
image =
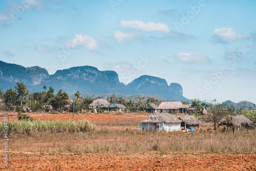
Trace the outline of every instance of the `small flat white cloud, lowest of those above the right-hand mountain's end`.
[[210, 58], [201, 53], [177, 53], [174, 55], [176, 61], [184, 63], [208, 63]]

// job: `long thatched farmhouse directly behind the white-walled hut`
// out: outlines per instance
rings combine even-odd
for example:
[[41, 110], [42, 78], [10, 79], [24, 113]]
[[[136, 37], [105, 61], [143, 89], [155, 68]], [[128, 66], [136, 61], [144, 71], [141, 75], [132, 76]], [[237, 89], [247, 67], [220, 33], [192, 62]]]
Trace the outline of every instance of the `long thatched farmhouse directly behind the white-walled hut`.
[[168, 112], [168, 113], [186, 113], [188, 109], [187, 104], [183, 104], [181, 101], [165, 101], [161, 102], [158, 106], [158, 109], [161, 112]]

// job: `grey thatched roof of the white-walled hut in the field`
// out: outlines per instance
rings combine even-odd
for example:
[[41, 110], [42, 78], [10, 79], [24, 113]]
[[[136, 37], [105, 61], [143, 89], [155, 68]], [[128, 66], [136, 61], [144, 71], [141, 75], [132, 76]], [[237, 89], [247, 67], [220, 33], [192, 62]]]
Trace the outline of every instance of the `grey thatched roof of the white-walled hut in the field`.
[[180, 123], [181, 120], [177, 119], [175, 116], [169, 113], [159, 113], [159, 114], [152, 114], [147, 117], [147, 119], [140, 121], [140, 122], [147, 122], [147, 123], [159, 123], [164, 121], [165, 123]]

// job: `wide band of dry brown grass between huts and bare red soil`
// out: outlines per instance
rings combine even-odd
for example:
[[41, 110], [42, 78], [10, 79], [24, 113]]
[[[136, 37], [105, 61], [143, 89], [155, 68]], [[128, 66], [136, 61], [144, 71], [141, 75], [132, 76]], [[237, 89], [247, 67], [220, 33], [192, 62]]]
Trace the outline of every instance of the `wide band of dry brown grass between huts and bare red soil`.
[[93, 133], [10, 135], [11, 151], [38, 153], [256, 153], [256, 132], [141, 132], [100, 126]]

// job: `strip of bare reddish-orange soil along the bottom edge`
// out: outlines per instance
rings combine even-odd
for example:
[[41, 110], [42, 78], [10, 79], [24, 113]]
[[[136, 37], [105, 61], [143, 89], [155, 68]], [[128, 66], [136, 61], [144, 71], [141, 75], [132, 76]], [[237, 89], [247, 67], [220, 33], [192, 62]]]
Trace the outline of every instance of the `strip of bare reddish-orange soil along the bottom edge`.
[[[1, 158], [4, 153], [0, 153]], [[4, 164], [1, 162], [0, 168]], [[10, 170], [256, 170], [256, 155], [9, 153]]]

